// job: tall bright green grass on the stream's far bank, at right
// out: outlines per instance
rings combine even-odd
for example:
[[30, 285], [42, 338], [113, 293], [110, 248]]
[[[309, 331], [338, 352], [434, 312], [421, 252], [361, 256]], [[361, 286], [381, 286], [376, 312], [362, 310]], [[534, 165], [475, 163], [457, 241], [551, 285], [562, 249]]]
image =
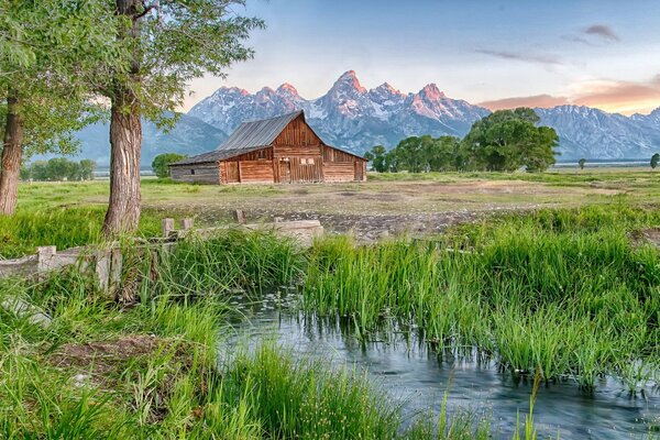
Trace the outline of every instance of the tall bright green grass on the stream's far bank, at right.
[[306, 307], [351, 316], [363, 333], [394, 317], [515, 372], [586, 387], [609, 374], [635, 392], [660, 366], [660, 255], [629, 233], [658, 223], [657, 211], [612, 206], [510, 216], [438, 241], [333, 239], [312, 251]]

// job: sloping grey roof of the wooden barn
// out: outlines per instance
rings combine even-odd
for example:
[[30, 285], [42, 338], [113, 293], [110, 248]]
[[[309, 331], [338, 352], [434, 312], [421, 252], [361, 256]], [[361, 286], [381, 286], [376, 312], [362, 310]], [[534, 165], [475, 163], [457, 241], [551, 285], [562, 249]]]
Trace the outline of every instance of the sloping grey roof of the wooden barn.
[[[275, 118], [243, 122], [217, 150], [209, 153], [199, 154], [197, 156], [187, 157], [170, 165], [190, 165], [218, 162], [229, 157], [238, 156], [240, 154], [265, 148], [275, 141], [275, 139], [279, 135], [279, 133], [282, 133], [286, 125], [289, 124], [289, 122], [298, 118], [300, 114], [302, 114], [305, 118], [302, 110], [297, 110], [292, 113], [282, 114]], [[354, 155], [353, 153], [349, 154]]]

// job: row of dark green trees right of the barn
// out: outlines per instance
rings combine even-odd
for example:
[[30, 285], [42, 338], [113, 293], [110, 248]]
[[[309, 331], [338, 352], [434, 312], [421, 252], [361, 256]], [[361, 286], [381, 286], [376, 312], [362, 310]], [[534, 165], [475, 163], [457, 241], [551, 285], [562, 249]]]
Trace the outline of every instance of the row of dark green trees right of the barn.
[[532, 109], [498, 110], [476, 121], [462, 140], [455, 136], [411, 136], [389, 152], [374, 146], [364, 157], [380, 173], [540, 172], [553, 165], [559, 136], [550, 127], [537, 127]]

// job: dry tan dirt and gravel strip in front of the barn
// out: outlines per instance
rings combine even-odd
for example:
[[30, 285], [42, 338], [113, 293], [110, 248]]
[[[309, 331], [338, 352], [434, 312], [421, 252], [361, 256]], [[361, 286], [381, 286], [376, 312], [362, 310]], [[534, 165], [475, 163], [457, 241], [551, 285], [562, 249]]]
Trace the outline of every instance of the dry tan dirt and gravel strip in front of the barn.
[[[185, 187], [170, 186], [173, 190]], [[145, 206], [197, 224], [231, 220], [235, 209], [249, 221], [320, 220], [331, 232], [351, 232], [361, 241], [410, 233], [429, 234], [449, 226], [508, 211], [579, 206], [622, 193], [600, 185], [557, 186], [524, 180], [373, 182], [341, 185], [263, 185], [197, 187], [185, 197], [144, 197]]]

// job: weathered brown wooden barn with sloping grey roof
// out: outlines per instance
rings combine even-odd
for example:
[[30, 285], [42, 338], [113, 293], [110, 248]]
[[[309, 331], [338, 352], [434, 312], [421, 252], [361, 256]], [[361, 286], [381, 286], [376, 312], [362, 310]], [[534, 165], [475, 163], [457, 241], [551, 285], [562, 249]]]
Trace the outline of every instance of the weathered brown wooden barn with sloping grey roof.
[[169, 165], [172, 178], [205, 184], [366, 180], [366, 160], [327, 145], [296, 111], [243, 122], [218, 150]]

